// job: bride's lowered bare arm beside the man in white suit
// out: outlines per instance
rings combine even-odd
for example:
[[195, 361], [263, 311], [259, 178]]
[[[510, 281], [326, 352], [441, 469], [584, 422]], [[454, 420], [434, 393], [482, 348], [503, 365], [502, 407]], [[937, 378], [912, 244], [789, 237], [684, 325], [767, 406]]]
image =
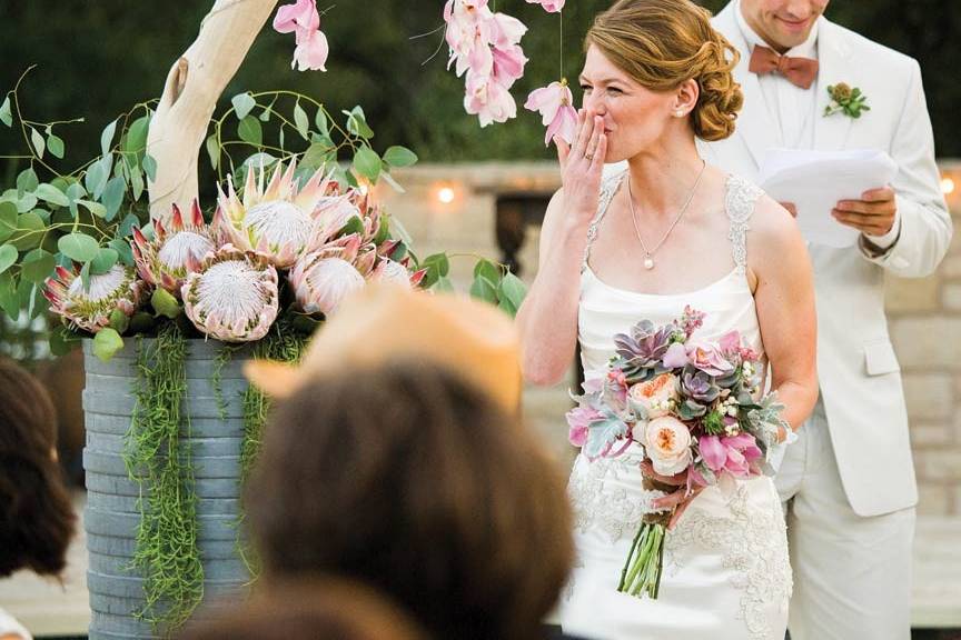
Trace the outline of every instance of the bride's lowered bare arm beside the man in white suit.
[[767, 197], [751, 218], [749, 266], [757, 278], [754, 302], [771, 388], [784, 403], [783, 418], [797, 429], [818, 401], [818, 318], [808, 248], [794, 219]]

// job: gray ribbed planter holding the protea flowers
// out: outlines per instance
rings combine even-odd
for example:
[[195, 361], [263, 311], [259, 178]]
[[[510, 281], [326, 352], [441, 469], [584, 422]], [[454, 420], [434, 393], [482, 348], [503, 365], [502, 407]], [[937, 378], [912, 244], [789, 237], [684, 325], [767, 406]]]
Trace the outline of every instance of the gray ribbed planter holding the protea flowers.
[[[141, 488], [128, 477], [123, 463], [123, 437], [133, 412], [137, 363], [137, 341], [127, 342], [109, 362], [102, 362], [93, 356], [91, 341], [83, 341], [85, 528], [90, 553], [87, 587], [92, 610], [91, 640], [159, 637], [132, 616], [143, 606], [143, 580], [130, 568]], [[149, 342], [145, 339], [143, 347]], [[187, 392], [182, 402], [190, 417], [189, 433], [186, 420], [181, 426], [181, 442], [190, 447], [196, 478], [205, 601], [236, 592], [249, 581], [237, 544], [241, 396], [247, 382], [241, 373], [242, 352], [235, 353], [220, 371], [226, 402], [226, 418], [221, 418], [212, 382], [215, 358], [221, 348], [215, 341], [188, 340]]]

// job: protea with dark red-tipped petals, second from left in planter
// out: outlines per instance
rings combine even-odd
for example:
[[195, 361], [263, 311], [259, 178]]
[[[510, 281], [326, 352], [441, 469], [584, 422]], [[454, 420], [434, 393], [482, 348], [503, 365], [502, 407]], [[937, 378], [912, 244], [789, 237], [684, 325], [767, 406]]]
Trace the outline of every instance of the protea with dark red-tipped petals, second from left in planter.
[[204, 222], [200, 204], [194, 200], [186, 222], [180, 209], [174, 204], [170, 229], [155, 220], [151, 241], [135, 228], [131, 247], [140, 278], [179, 298], [187, 273], [197, 271], [204, 257], [220, 247], [220, 240]]

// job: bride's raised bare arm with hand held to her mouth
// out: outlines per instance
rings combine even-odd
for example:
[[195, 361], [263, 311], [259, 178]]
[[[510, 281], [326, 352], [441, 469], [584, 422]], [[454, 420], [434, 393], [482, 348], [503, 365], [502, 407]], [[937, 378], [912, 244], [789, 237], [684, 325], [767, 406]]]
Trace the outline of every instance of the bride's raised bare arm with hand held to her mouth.
[[597, 210], [607, 151], [601, 118], [579, 116], [573, 147], [559, 141], [564, 187], [551, 199], [541, 231], [537, 277], [517, 312], [522, 369], [535, 384], [553, 384], [571, 366], [577, 341], [581, 261]]

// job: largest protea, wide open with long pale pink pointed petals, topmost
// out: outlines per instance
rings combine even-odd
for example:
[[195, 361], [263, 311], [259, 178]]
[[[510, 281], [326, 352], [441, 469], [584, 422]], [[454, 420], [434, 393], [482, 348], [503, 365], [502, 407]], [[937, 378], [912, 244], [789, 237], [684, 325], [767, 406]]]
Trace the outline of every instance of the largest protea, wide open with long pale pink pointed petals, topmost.
[[[301, 188], [294, 180], [296, 162], [278, 163], [264, 187], [265, 170], [247, 172], [244, 197], [228, 177], [220, 191], [214, 226], [239, 249], [268, 257], [279, 269], [294, 264], [307, 250], [325, 242], [359, 210], [337, 193], [337, 183], [318, 169]], [[257, 174], [255, 177], [255, 173]]]

